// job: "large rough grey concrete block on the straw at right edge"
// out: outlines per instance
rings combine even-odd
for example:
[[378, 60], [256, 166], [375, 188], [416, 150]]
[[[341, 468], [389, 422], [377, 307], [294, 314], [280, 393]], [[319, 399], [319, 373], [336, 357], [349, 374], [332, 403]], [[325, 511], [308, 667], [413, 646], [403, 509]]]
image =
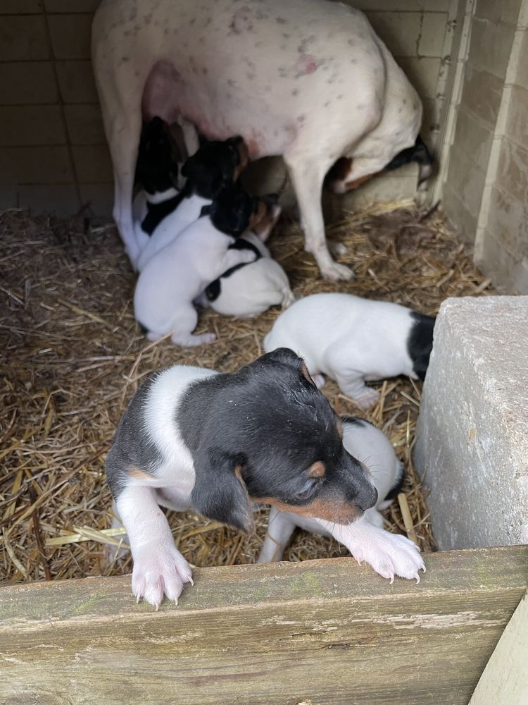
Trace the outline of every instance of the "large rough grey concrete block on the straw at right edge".
[[528, 543], [528, 297], [440, 307], [415, 465], [441, 549]]

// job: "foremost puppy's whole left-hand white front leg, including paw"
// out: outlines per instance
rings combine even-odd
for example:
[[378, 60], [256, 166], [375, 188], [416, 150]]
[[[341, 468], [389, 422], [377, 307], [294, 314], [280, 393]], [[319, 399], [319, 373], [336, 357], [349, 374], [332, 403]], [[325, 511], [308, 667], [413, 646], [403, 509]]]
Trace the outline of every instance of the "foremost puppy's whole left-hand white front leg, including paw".
[[177, 603], [184, 583], [192, 583], [189, 563], [177, 550], [165, 515], [151, 487], [127, 486], [115, 506], [130, 541], [132, 592], [156, 610], [163, 595]]

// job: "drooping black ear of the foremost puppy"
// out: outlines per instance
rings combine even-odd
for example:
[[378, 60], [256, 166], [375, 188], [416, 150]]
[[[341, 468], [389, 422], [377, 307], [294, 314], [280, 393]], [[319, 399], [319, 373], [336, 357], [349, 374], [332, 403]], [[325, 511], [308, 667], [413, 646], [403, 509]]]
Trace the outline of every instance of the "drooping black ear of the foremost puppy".
[[196, 511], [209, 519], [252, 532], [253, 513], [237, 458], [220, 450], [204, 450], [194, 459], [194, 468], [196, 480], [191, 502]]

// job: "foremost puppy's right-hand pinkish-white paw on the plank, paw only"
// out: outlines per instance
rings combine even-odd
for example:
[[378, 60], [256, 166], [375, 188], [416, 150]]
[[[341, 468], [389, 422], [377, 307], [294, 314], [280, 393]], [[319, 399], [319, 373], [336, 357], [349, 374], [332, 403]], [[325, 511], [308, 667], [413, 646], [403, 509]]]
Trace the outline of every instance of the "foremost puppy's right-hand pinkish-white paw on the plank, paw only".
[[425, 565], [420, 556], [420, 548], [401, 534], [382, 532], [375, 541], [365, 541], [364, 545], [355, 546], [353, 557], [358, 563], [372, 565], [372, 568], [394, 582], [394, 576], [420, 582], [419, 570], [425, 572]]

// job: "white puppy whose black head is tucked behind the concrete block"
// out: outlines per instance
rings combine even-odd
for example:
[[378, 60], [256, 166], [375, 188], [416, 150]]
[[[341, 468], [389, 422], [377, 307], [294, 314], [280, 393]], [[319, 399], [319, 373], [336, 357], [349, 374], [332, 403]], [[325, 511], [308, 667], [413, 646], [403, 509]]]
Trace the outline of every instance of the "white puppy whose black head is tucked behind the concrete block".
[[282, 313], [264, 350], [287, 346], [306, 360], [316, 384], [326, 374], [361, 408], [379, 392], [365, 381], [406, 374], [424, 379], [435, 318], [388, 301], [351, 294], [313, 294]]

